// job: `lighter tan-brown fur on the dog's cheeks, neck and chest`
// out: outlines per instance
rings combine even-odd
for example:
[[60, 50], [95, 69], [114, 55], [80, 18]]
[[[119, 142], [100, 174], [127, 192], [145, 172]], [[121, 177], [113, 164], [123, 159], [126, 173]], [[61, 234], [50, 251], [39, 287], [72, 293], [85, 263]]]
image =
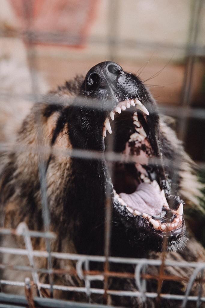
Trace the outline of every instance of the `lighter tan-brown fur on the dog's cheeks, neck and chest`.
[[[78, 82], [78, 79], [76, 82]], [[53, 94], [73, 96], [76, 95], [75, 89], [75, 84], [70, 84], [70, 91], [65, 87], [62, 87], [59, 91], [53, 92]], [[51, 162], [46, 173], [46, 181], [47, 198], [51, 213], [51, 231], [57, 233], [57, 240], [52, 242], [51, 250], [75, 253], [76, 249], [70, 238], [70, 233], [72, 233], [73, 228], [72, 224], [69, 225], [69, 229], [66, 232], [66, 238], [62, 239], [61, 234], [58, 233], [58, 225], [63, 223], [63, 210], [61, 202], [62, 191], [68, 177], [70, 176], [70, 158], [68, 155], [65, 155], [64, 151], [72, 149], [72, 146], [69, 141], [68, 127], [65, 127], [65, 129], [60, 132], [53, 147], [50, 146], [52, 133], [56, 127], [59, 112], [55, 111], [49, 118], [46, 118], [44, 116], [46, 107], [47, 104], [34, 105], [30, 111], [30, 114], [22, 123], [22, 127], [18, 133], [13, 149], [11, 149], [10, 153], [2, 156], [4, 166], [7, 165], [0, 182], [0, 187], [4, 184], [1, 193], [4, 227], [15, 229], [21, 221], [25, 221], [29, 229], [43, 230], [38, 164], [39, 161], [48, 160], [49, 156], [52, 154]], [[167, 124], [165, 124], [163, 119], [161, 120], [161, 130], [174, 146], [177, 147], [180, 144], [180, 141], [176, 138], [174, 132], [167, 126]], [[192, 162], [190, 158], [186, 153], [184, 153], [184, 161], [180, 172], [180, 192], [186, 202], [199, 206], [196, 197], [200, 195], [200, 184], [192, 171], [191, 165]], [[10, 170], [14, 170], [11, 175], [8, 174]], [[30, 187], [30, 185], [32, 185], [32, 187]], [[10, 197], [11, 190], [14, 190], [14, 194]], [[22, 193], [22, 191], [25, 192], [26, 195], [28, 190], [33, 190], [34, 192], [33, 197], [37, 204], [36, 208], [32, 208], [26, 203], [26, 199], [24, 198], [24, 193]], [[3, 245], [24, 248], [22, 239], [17, 236], [3, 237], [2, 246]], [[34, 239], [33, 245], [36, 250], [45, 250], [44, 240]], [[160, 258], [161, 255], [160, 253], [151, 253], [150, 257]], [[26, 259], [27, 258], [8, 256], [4, 254], [2, 262], [12, 265], [19, 265], [19, 262], [21, 262], [24, 265], [29, 265], [28, 260]], [[197, 243], [194, 239], [190, 239], [187, 243], [186, 249], [179, 253], [167, 253], [167, 259], [195, 262], [205, 261], [205, 251], [199, 243]], [[45, 259], [38, 258], [36, 260], [36, 266], [46, 268], [47, 264]], [[53, 260], [53, 267], [57, 269], [72, 270], [74, 269], [74, 266], [75, 264], [72, 261]], [[157, 270], [154, 267], [150, 267], [148, 269], [148, 273], [157, 274]], [[189, 268], [168, 267], [166, 268], [166, 273], [170, 275], [178, 275], [180, 277], [190, 277], [191, 270]], [[30, 274], [27, 272], [22, 272], [21, 276], [19, 276], [18, 272], [4, 271], [2, 278], [23, 281], [24, 278], [28, 276], [30, 276]], [[40, 281], [48, 282], [48, 276], [42, 274], [40, 276]], [[54, 276], [54, 283], [65, 285], [82, 285], [82, 282], [79, 279], [76, 280], [76, 278], [69, 274]], [[180, 283], [179, 289], [185, 290], [186, 285], [187, 283], [185, 282]], [[125, 283], [124, 287], [127, 290], [134, 290], [136, 288], [132, 281]], [[22, 289], [15, 290], [18, 294], [24, 293]], [[4, 288], [4, 291], [11, 293], [14, 293], [15, 290], [13, 287]], [[54, 297], [64, 298], [67, 294], [67, 292], [55, 291]], [[198, 294], [196, 285], [194, 285], [192, 289], [192, 294]], [[72, 298], [72, 295], [70, 298]], [[78, 299], [78, 297], [73, 297], [73, 299]], [[86, 300], [86, 298], [82, 297], [80, 300]], [[113, 305], [127, 305], [127, 299], [112, 298], [111, 301]], [[178, 304], [179, 302], [176, 303]], [[147, 304], [148, 307], [155, 307], [155, 302], [153, 300], [148, 300]], [[135, 307], [143, 307], [144, 304], [140, 299], [136, 298], [133, 299], [133, 305]], [[173, 306], [176, 306], [176, 304], [173, 304]], [[187, 307], [192, 307], [192, 303], [190, 303]]]

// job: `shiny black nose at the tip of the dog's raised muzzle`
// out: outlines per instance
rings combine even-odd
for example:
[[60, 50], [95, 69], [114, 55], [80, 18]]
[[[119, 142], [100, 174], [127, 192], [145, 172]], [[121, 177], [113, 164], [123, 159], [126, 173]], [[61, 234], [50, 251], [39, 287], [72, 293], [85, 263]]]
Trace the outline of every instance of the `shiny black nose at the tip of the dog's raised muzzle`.
[[115, 62], [101, 62], [93, 66], [85, 76], [85, 90], [95, 91], [116, 82], [122, 67]]

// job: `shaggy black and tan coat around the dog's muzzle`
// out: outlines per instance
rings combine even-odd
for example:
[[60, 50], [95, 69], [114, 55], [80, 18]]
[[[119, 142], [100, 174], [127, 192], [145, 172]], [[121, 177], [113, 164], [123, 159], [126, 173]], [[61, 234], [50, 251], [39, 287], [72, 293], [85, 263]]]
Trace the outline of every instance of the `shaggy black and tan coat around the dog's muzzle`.
[[[78, 95], [82, 96], [83, 84], [84, 77], [76, 77], [72, 81], [66, 82], [65, 86], [58, 87], [56, 91], [50, 93], [53, 95], [53, 99], [55, 97], [69, 97], [74, 101]], [[81, 108], [81, 112], [84, 112], [83, 108]], [[94, 117], [99, 115], [97, 113], [98, 111], [95, 112], [93, 112]], [[96, 125], [95, 119], [93, 120], [90, 114], [86, 114], [86, 116], [87, 120], [85, 122], [80, 119], [78, 111], [75, 108], [69, 107], [66, 103], [34, 104], [29, 115], [22, 122], [14, 143], [14, 148], [1, 157], [0, 201], [3, 211], [4, 227], [15, 229], [20, 222], [25, 221], [29, 229], [42, 231], [43, 220], [39, 163], [45, 163], [51, 231], [57, 234], [57, 240], [52, 242], [51, 250], [66, 253], [99, 255], [104, 253], [104, 183], [107, 181], [106, 167], [99, 161], [74, 159], [65, 155], [66, 150], [72, 150], [73, 148], [102, 150], [101, 143], [97, 144], [93, 142], [95, 132], [92, 130], [92, 125]], [[76, 122], [78, 123], [81, 120], [81, 130], [79, 130], [75, 125]], [[182, 144], [177, 139], [173, 130], [166, 124], [166, 118], [161, 116], [159, 123], [159, 142], [163, 140], [161, 142], [163, 144], [163, 155], [168, 158], [179, 155], [182, 159], [179, 170], [179, 195], [185, 203], [191, 203], [197, 206], [197, 196], [200, 195], [200, 184], [194, 175], [193, 163], [184, 152]], [[98, 129], [97, 125], [96, 127]], [[99, 132], [102, 134], [101, 127], [99, 127]], [[85, 145], [83, 138], [86, 134], [89, 136], [86, 139], [87, 144]], [[99, 198], [99, 196], [103, 197]], [[95, 205], [95, 209], [93, 205]], [[115, 209], [113, 215], [113, 220], [116, 217], [116, 226], [114, 225], [112, 229], [112, 255], [160, 257], [160, 253], [150, 251], [148, 241], [147, 245], [142, 244], [140, 237], [135, 244], [130, 244], [130, 242], [126, 243], [123, 239], [120, 239], [121, 243], [119, 244], [118, 236], [121, 238], [122, 233], [119, 235], [117, 233], [122, 227], [118, 221], [117, 214], [115, 216]], [[124, 230], [123, 232], [126, 233]], [[126, 233], [125, 238], [128, 238], [128, 236], [129, 233]], [[24, 248], [21, 238], [15, 236], [9, 238], [2, 237], [1, 245]], [[45, 250], [44, 240], [33, 239], [33, 245], [36, 250]], [[177, 245], [176, 242], [175, 250]], [[141, 249], [142, 246], [143, 249]], [[140, 248], [136, 249], [136, 247]], [[151, 250], [158, 249], [153, 247]], [[205, 252], [199, 243], [193, 238], [190, 238], [185, 249], [179, 252], [167, 253], [167, 258], [169, 260], [179, 261], [204, 261]], [[19, 265], [20, 262], [29, 265], [27, 258], [12, 257], [6, 254], [3, 255], [2, 262], [12, 265]], [[36, 264], [37, 267], [46, 268], [47, 266], [45, 259], [40, 258], [38, 258]], [[72, 270], [75, 264], [71, 261], [53, 260], [53, 267], [55, 269]], [[126, 267], [124, 265], [120, 266], [120, 268], [115, 268], [114, 266], [112, 268], [112, 270], [119, 269], [121, 272], [133, 272], [132, 267]], [[149, 267], [147, 273], [157, 274], [157, 271], [155, 267]], [[178, 275], [180, 277], [190, 277], [191, 275], [189, 268], [169, 267], [165, 271], [167, 274]], [[2, 278], [23, 280], [28, 275], [28, 273], [22, 272], [21, 276], [19, 276], [17, 272], [5, 270], [2, 273]], [[40, 281], [48, 282], [48, 276], [42, 274]], [[69, 274], [54, 276], [54, 283], [83, 286], [83, 283], [79, 279]], [[110, 289], [136, 290], [136, 285], [131, 279], [113, 278], [110, 279], [109, 285]], [[95, 287], [94, 283], [93, 286]], [[156, 288], [156, 281], [152, 280], [148, 282], [148, 291], [156, 292]], [[164, 281], [162, 284], [163, 293], [183, 294], [185, 289], [186, 282]], [[4, 287], [3, 291], [15, 292], [13, 287]], [[20, 294], [23, 290], [16, 290], [16, 292]], [[198, 294], [197, 284], [193, 286], [191, 294]], [[54, 297], [87, 301], [87, 298], [83, 294], [70, 292], [54, 291]], [[101, 296], [92, 296], [92, 300], [94, 302], [102, 302]], [[109, 302], [112, 305], [124, 307], [157, 306], [155, 300], [148, 299], [146, 303], [143, 303], [140, 298], [113, 296], [109, 298]], [[161, 307], [179, 307], [180, 304], [179, 301], [163, 300]], [[195, 304], [191, 302], [187, 305], [187, 307], [194, 306]]]

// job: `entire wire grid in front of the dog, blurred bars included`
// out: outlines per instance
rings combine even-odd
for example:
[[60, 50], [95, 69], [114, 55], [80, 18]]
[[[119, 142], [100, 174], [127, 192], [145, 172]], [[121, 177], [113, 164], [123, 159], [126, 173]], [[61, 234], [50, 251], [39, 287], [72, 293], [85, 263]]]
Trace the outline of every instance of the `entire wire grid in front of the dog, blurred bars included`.
[[[13, 33], [12, 30], [8, 30], [7, 32], [1, 33], [1, 35], [10, 37], [12, 35], [18, 35], [18, 37], [21, 37], [24, 39], [28, 44], [28, 60], [30, 63], [31, 68], [31, 76], [32, 76], [32, 85], [33, 85], [33, 93], [30, 96], [27, 96], [26, 99], [32, 100], [34, 102], [36, 101], [45, 101], [47, 99], [48, 103], [53, 102], [52, 97], [47, 98], [45, 96], [39, 97], [38, 96], [38, 85], [37, 85], [37, 76], [35, 72], [35, 61], [36, 61], [36, 53], [34, 44], [35, 43], [41, 43], [45, 42], [46, 39], [49, 39], [49, 41], [53, 41], [55, 44], [68, 44], [68, 43], [75, 43], [78, 42], [78, 38], [73, 37], [70, 34], [56, 34], [56, 33], [35, 33], [31, 30], [32, 25], [32, 5], [30, 1], [25, 1], [25, 18], [27, 19], [28, 29], [23, 32], [19, 33]], [[181, 111], [179, 112], [179, 108], [170, 108], [170, 107], [164, 107], [161, 108], [161, 110], [168, 115], [176, 115], [181, 118], [180, 121], [180, 128], [179, 128], [179, 135], [182, 140], [184, 140], [184, 132], [186, 130], [187, 125], [187, 116], [192, 116], [195, 118], [204, 119], [205, 114], [204, 110], [201, 109], [192, 109], [190, 107], [190, 88], [192, 84], [192, 70], [195, 58], [197, 56], [205, 55], [204, 47], [197, 46], [196, 44], [196, 38], [197, 38], [197, 31], [199, 29], [199, 14], [201, 7], [203, 5], [203, 1], [195, 1], [194, 9], [192, 11], [192, 26], [190, 28], [190, 35], [189, 35], [189, 42], [186, 46], [182, 45], [176, 45], [173, 43], [173, 45], [163, 45], [161, 48], [164, 48], [164, 50], [186, 50], [186, 72], [184, 75], [184, 83], [183, 83], [183, 98], [182, 98], [182, 104], [181, 104]], [[120, 46], [122, 44], [126, 44], [128, 47], [135, 47], [136, 43], [138, 43], [138, 48], [153, 48], [156, 47], [156, 44], [154, 43], [148, 43], [148, 42], [134, 42], [134, 41], [120, 41], [117, 38], [116, 35], [116, 19], [117, 19], [117, 2], [113, 1], [110, 2], [109, 6], [109, 15], [110, 15], [110, 24], [109, 24], [109, 39], [108, 41], [101, 41], [103, 44], [108, 44], [109, 52], [110, 52], [110, 59], [113, 59], [115, 56], [115, 50], [117, 46]], [[99, 43], [98, 38], [91, 38], [90, 43]], [[10, 93], [0, 93], [0, 98], [5, 99], [5, 97], [11, 97]], [[16, 96], [15, 96], [16, 97]], [[25, 97], [24, 97], [25, 98]], [[55, 97], [55, 103], [56, 103], [56, 97]], [[83, 102], [82, 102], [83, 103]], [[79, 100], [79, 104], [81, 104]], [[92, 106], [92, 102], [91, 102]], [[96, 107], [96, 104], [95, 104]], [[39, 130], [39, 137], [40, 137], [40, 130]], [[9, 144], [1, 143], [1, 150], [5, 150], [9, 148]], [[18, 148], [15, 149], [18, 151]], [[33, 149], [36, 150], [38, 153], [41, 153], [41, 148]], [[45, 151], [45, 148], [43, 149]], [[50, 149], [48, 149], [50, 151]], [[57, 151], [57, 150], [56, 150]], [[56, 153], [57, 154], [57, 153]], [[60, 153], [59, 153], [60, 154]], [[62, 153], [61, 153], [62, 154]], [[91, 151], [81, 151], [81, 150], [74, 150], [71, 152], [65, 151], [65, 155], [73, 155], [76, 157], [84, 157], [84, 158], [98, 158], [98, 159], [104, 159], [102, 157], [101, 153], [91, 152]], [[116, 161], [120, 160], [121, 157], [117, 156], [116, 153], [108, 152], [106, 153], [106, 159], [110, 161]], [[132, 161], [132, 158], [130, 157], [130, 161]], [[156, 163], [159, 164], [159, 161], [156, 161]], [[167, 162], [169, 163], [169, 162]], [[175, 165], [178, 166], [180, 162], [176, 161]], [[203, 166], [204, 167], [204, 166]], [[0, 247], [0, 253], [8, 253], [8, 254], [15, 254], [19, 256], [27, 256], [30, 265], [29, 266], [12, 266], [8, 264], [0, 264], [1, 269], [9, 268], [11, 270], [17, 270], [17, 271], [30, 271], [32, 281], [30, 281], [30, 278], [26, 278], [24, 282], [20, 281], [7, 281], [7, 280], [0, 280], [1, 285], [10, 285], [10, 286], [18, 286], [25, 289], [25, 295], [26, 295], [26, 302], [23, 298], [19, 298], [18, 296], [14, 297], [13, 299], [10, 298], [9, 295], [7, 295], [7, 300], [9, 303], [15, 304], [17, 302], [21, 302], [23, 306], [26, 305], [27, 301], [29, 302], [29, 307], [34, 307], [34, 302], [32, 299], [32, 288], [35, 287], [37, 290], [37, 295], [39, 296], [39, 299], [35, 299], [35, 301], [38, 301], [38, 305], [41, 306], [41, 298], [42, 298], [42, 290], [49, 290], [50, 295], [52, 296], [53, 290], [64, 290], [67, 292], [80, 292], [85, 293], [88, 297], [91, 294], [101, 294], [101, 295], [116, 295], [116, 296], [134, 296], [134, 297], [140, 297], [142, 298], [142, 301], [146, 301], [146, 298], [157, 298], [159, 296], [158, 293], [151, 293], [147, 292], [146, 290], [146, 280], [147, 279], [156, 279], [159, 281], [161, 279], [159, 276], [155, 277], [148, 277], [146, 274], [146, 268], [149, 265], [156, 266], [157, 268], [161, 268], [162, 266], [174, 266], [174, 267], [189, 267], [193, 269], [191, 277], [189, 277], [188, 283], [187, 283], [187, 290], [185, 292], [185, 295], [177, 295], [177, 294], [160, 294], [161, 298], [164, 299], [173, 299], [182, 301], [182, 307], [185, 307], [188, 301], [193, 301], [196, 303], [196, 306], [199, 307], [201, 303], [205, 302], [205, 297], [202, 297], [201, 295], [201, 289], [202, 284], [204, 283], [203, 274], [204, 274], [204, 268], [205, 268], [205, 262], [179, 262], [179, 261], [168, 261], [165, 258], [162, 258], [162, 260], [154, 260], [154, 259], [131, 259], [131, 258], [120, 258], [120, 257], [109, 257], [109, 232], [110, 232], [110, 219], [109, 219], [109, 213], [110, 213], [110, 203], [109, 200], [107, 202], [107, 212], [106, 212], [106, 237], [105, 237], [105, 255], [104, 256], [87, 256], [87, 255], [78, 255], [78, 254], [69, 254], [69, 253], [56, 253], [52, 252], [50, 248], [50, 241], [55, 238], [55, 234], [49, 232], [49, 226], [50, 226], [50, 217], [49, 217], [49, 210], [48, 210], [48, 204], [46, 199], [46, 183], [45, 183], [45, 165], [43, 160], [39, 160], [39, 174], [41, 179], [41, 193], [42, 193], [42, 207], [43, 207], [43, 223], [44, 223], [44, 230], [45, 232], [37, 232], [37, 231], [31, 231], [28, 230], [28, 227], [25, 223], [21, 223], [16, 230], [9, 230], [9, 229], [0, 229], [0, 234], [3, 235], [21, 235], [24, 238], [25, 242], [25, 249], [14, 249], [11, 247]], [[46, 242], [46, 251], [36, 251], [33, 250], [31, 237], [43, 237], [45, 238]], [[48, 268], [37, 268], [35, 265], [35, 258], [45, 257], [48, 260]], [[79, 279], [81, 279], [84, 282], [83, 287], [77, 287], [77, 286], [64, 286], [64, 285], [55, 285], [53, 284], [52, 280], [52, 274], [57, 273], [55, 269], [52, 267], [52, 259], [64, 259], [64, 260], [73, 260], [76, 262], [76, 270], [75, 274]], [[93, 270], [89, 270], [89, 264], [90, 262], [99, 262], [99, 263], [105, 263], [106, 264], [106, 271], [104, 272], [97, 272]], [[119, 272], [110, 272], [109, 271], [109, 264], [115, 263], [115, 264], [128, 264], [134, 266], [134, 272], [131, 273], [119, 273]], [[47, 273], [49, 275], [49, 283], [41, 283], [39, 279], [40, 273]], [[63, 271], [61, 272], [61, 274]], [[65, 272], [67, 273], [67, 272]], [[59, 274], [59, 272], [57, 273]], [[200, 279], [198, 278], [200, 276]], [[123, 278], [132, 278], [135, 280], [136, 289], [137, 291], [127, 291], [127, 290], [109, 290], [108, 285], [106, 285], [106, 280], [108, 277], [123, 277]], [[167, 277], [165, 274], [163, 276], [163, 279], [170, 279], [170, 277]], [[180, 277], [175, 277], [175, 280], [180, 280]], [[198, 280], [197, 280], [198, 279]], [[91, 282], [95, 280], [98, 282], [104, 283], [104, 288], [92, 288]], [[199, 292], [198, 296], [191, 296], [190, 291], [191, 287], [193, 286], [193, 283], [195, 281], [199, 282]], [[4, 294], [0, 293], [0, 302], [6, 302], [6, 298], [4, 298]], [[52, 301], [52, 302], [51, 302]], [[46, 307], [58, 307], [59, 301], [57, 300], [47, 300], [43, 303]], [[75, 305], [75, 303], [70, 304], [72, 306], [69, 306], [69, 302], [61, 302], [61, 307], [101, 307], [100, 305], [96, 306], [94, 304], [84, 304], [81, 306], [81, 304]], [[1, 306], [0, 306], [1, 307]], [[14, 306], [13, 306], [14, 307]]]

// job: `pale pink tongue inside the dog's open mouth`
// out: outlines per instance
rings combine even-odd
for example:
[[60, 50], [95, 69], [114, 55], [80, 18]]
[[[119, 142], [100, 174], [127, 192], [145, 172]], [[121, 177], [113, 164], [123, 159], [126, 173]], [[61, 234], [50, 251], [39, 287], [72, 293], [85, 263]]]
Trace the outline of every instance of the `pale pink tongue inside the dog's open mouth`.
[[128, 207], [140, 213], [158, 215], [162, 212], [163, 200], [160, 191], [148, 183], [138, 185], [132, 194], [120, 193]]

